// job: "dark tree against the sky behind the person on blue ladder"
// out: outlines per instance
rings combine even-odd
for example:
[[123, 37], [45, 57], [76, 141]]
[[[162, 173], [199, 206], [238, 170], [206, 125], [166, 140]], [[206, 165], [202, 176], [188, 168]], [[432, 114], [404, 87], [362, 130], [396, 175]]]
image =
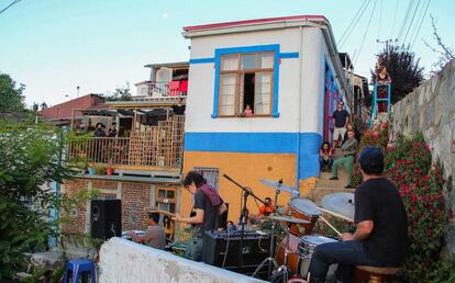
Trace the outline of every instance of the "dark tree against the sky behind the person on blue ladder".
[[[409, 46], [390, 45], [377, 56], [378, 60], [387, 67], [391, 79], [392, 103], [400, 101], [423, 81], [423, 67], [419, 66], [420, 59], [415, 59], [415, 54], [410, 50]], [[376, 81], [379, 71], [377, 67], [371, 70], [373, 82]], [[370, 101], [371, 95], [368, 97]]]

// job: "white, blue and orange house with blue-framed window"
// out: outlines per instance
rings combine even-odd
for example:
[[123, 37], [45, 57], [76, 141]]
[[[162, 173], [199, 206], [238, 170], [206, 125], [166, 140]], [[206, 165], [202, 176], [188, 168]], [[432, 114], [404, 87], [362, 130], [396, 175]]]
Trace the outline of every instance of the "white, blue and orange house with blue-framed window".
[[[352, 99], [329, 21], [297, 15], [184, 27], [191, 41], [184, 172], [202, 171], [240, 215], [240, 189], [260, 197], [260, 179], [309, 190], [319, 148], [331, 140], [336, 102]], [[252, 115], [244, 115], [246, 105]], [[191, 208], [181, 192], [181, 214]], [[289, 200], [280, 194], [280, 204]], [[249, 201], [251, 213], [257, 213]]]

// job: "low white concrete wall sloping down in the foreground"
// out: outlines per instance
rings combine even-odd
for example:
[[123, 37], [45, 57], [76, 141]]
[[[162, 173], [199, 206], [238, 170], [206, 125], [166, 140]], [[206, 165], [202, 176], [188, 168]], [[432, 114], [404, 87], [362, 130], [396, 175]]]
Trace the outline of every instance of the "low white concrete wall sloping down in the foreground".
[[120, 238], [101, 246], [100, 282], [259, 283], [262, 280], [193, 262]]

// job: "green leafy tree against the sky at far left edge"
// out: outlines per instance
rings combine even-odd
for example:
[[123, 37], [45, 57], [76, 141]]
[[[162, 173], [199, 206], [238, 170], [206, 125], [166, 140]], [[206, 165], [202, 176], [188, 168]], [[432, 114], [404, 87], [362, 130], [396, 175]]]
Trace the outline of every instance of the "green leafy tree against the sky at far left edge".
[[24, 97], [22, 95], [25, 84], [16, 87], [16, 82], [10, 75], [0, 72], [0, 112], [24, 111]]

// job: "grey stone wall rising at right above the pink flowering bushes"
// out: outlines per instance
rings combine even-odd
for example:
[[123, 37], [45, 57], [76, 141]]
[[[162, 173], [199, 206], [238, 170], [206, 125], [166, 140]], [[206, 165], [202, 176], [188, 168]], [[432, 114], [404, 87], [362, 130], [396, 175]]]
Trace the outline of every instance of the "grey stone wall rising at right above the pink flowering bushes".
[[[404, 135], [421, 131], [433, 158], [443, 162], [445, 177], [455, 176], [455, 60], [392, 106], [392, 128]], [[454, 196], [452, 192], [452, 211]], [[450, 227], [447, 241], [455, 252], [455, 223]]]

